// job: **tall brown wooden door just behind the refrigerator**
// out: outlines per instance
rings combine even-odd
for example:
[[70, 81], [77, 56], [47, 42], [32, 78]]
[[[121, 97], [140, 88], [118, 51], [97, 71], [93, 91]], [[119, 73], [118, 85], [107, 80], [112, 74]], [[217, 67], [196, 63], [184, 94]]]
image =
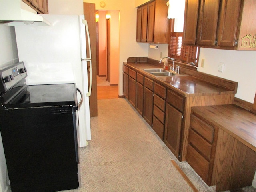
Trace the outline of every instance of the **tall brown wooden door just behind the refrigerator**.
[[[96, 22], [95, 22], [95, 4], [94, 3], [84, 3], [84, 16], [85, 16], [85, 20], [87, 20], [88, 22], [91, 50], [92, 50], [92, 92], [91, 92], [91, 96], [89, 97], [90, 117], [96, 117], [98, 116], [98, 102], [97, 102], [97, 62], [96, 62]], [[88, 73], [88, 82], [90, 82], [90, 73]]]

